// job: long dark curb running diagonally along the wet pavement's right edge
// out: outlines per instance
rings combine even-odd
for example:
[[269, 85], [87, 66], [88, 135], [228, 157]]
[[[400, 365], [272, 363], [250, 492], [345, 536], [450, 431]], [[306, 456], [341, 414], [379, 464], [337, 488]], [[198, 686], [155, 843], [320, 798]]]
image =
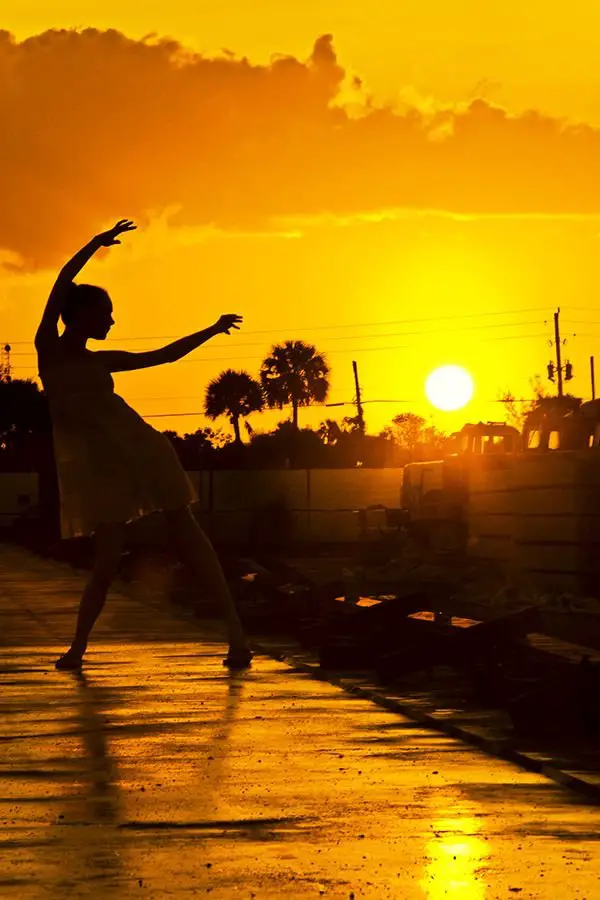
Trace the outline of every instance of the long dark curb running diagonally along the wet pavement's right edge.
[[264, 656], [269, 656], [272, 659], [276, 659], [278, 662], [283, 662], [288, 666], [292, 666], [307, 675], [311, 675], [313, 678], [317, 678], [319, 681], [326, 681], [329, 684], [333, 684], [336, 687], [341, 688], [347, 694], [361, 697], [364, 700], [370, 700], [371, 703], [375, 703], [377, 706], [381, 706], [391, 712], [400, 713], [421, 725], [426, 725], [428, 728], [441, 731], [449, 737], [457, 738], [479, 750], [483, 750], [490, 756], [504, 759], [507, 762], [514, 763], [530, 772], [543, 775], [545, 778], [560, 784], [561, 787], [570, 788], [571, 790], [583, 794], [588, 799], [600, 803], [600, 781], [598, 784], [593, 784], [586, 781], [584, 778], [579, 778], [577, 775], [565, 772], [563, 769], [559, 769], [552, 764], [543, 763], [521, 750], [516, 750], [509, 745], [508, 741], [505, 742], [495, 740], [494, 738], [486, 738], [484, 735], [470, 731], [468, 728], [464, 728], [461, 725], [455, 725], [446, 719], [438, 719], [431, 713], [423, 712], [411, 703], [388, 697], [384, 693], [379, 693], [379, 691], [368, 687], [361, 687], [361, 685], [358, 684], [348, 684], [343, 677], [331, 673], [328, 674], [325, 670], [321, 670], [318, 665], [303, 662], [296, 659], [293, 655], [288, 656], [284, 653], [277, 653], [273, 649], [269, 650], [261, 644], [260, 641], [252, 640], [252, 637], [250, 637], [250, 642], [254, 649]]

